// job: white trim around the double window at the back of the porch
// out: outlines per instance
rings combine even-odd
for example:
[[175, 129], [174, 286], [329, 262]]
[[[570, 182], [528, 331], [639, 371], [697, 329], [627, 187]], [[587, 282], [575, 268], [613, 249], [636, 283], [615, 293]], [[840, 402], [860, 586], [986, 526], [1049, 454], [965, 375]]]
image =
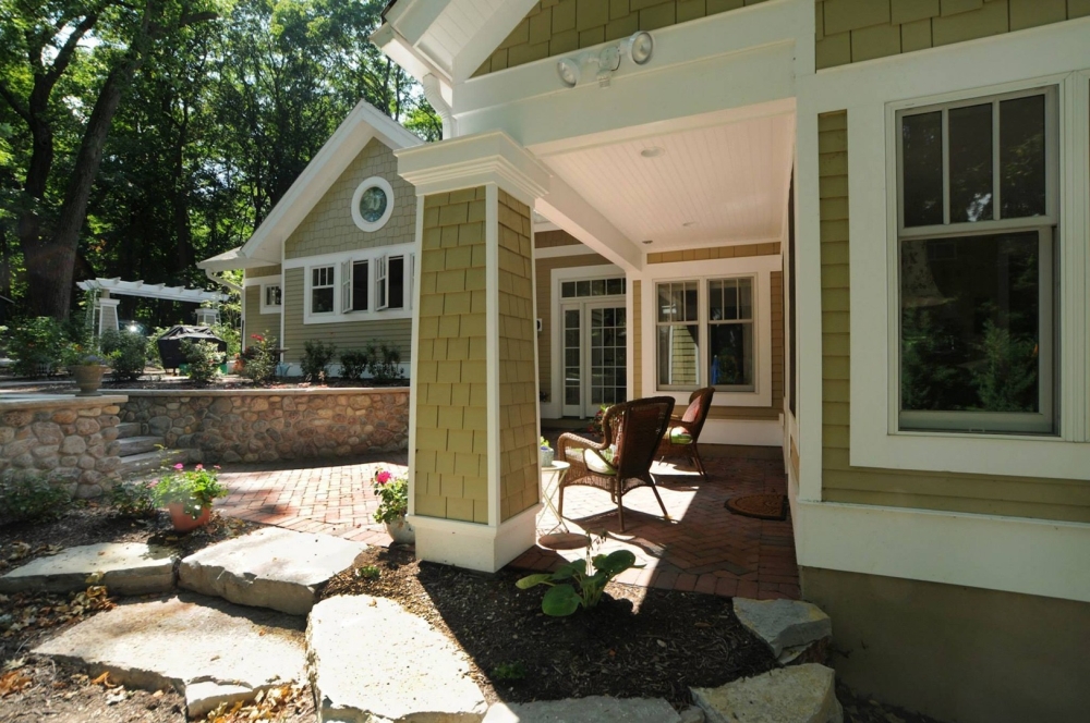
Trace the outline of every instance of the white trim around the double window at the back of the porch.
[[[665, 281], [700, 281], [700, 304], [706, 302], [708, 280], [731, 277], [753, 278], [753, 391], [728, 392], [716, 390], [712, 406], [772, 406], [772, 272], [783, 270], [783, 257], [748, 256], [711, 261], [683, 261], [655, 264], [644, 267], [641, 279], [643, 331], [643, 395], [673, 396], [678, 404], [689, 403], [691, 390], [661, 390], [658, 388], [655, 308], [656, 285]], [[703, 308], [703, 306], [702, 306]], [[706, 320], [705, 320], [706, 321]], [[704, 321], [701, 321], [704, 324]], [[703, 354], [703, 350], [701, 351]]]

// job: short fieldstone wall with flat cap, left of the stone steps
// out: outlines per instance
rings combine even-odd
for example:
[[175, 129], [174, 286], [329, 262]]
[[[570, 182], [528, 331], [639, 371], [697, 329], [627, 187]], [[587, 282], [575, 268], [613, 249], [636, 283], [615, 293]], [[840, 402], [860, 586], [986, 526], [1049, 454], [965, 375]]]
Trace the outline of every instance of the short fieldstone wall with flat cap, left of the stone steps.
[[99, 497], [120, 478], [118, 414], [126, 399], [0, 400], [0, 479], [45, 477], [73, 497]]

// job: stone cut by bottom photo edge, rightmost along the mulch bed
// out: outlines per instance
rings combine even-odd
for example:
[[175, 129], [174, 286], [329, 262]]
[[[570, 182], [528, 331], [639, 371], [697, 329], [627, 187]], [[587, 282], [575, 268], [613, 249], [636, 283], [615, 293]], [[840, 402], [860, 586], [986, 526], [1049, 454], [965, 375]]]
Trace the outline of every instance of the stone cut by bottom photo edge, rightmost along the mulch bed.
[[807, 663], [727, 683], [692, 688], [707, 723], [841, 723], [833, 669]]

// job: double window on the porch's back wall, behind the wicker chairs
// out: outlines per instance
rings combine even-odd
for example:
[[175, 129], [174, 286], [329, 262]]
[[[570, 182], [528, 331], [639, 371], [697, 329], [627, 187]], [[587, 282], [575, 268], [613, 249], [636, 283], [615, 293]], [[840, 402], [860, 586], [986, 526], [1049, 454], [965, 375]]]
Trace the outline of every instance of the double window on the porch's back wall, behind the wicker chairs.
[[659, 282], [656, 298], [659, 389], [755, 390], [753, 277]]

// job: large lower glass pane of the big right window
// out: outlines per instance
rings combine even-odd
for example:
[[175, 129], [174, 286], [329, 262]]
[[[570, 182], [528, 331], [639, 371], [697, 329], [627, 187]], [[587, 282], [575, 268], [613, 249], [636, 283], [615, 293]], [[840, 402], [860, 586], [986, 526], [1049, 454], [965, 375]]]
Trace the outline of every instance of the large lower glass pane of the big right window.
[[1040, 260], [1036, 231], [901, 242], [903, 409], [1040, 410]]

